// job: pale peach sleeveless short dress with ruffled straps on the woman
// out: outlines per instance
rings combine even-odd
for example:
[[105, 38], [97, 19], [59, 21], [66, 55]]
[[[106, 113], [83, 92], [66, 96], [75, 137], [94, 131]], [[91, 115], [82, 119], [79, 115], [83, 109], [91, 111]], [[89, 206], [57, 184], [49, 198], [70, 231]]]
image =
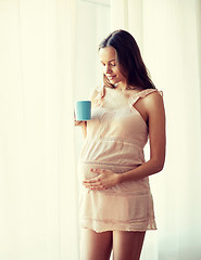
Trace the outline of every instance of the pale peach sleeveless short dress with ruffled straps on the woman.
[[[83, 180], [96, 177], [91, 168], [121, 174], [145, 162], [148, 128], [134, 104], [155, 91], [147, 89], [130, 95], [128, 105], [120, 109], [102, 107], [103, 89], [100, 91], [91, 120], [87, 122], [87, 138], [80, 154], [78, 170]], [[81, 227], [96, 232], [155, 230], [149, 178], [104, 191], [83, 186], [79, 220]]]

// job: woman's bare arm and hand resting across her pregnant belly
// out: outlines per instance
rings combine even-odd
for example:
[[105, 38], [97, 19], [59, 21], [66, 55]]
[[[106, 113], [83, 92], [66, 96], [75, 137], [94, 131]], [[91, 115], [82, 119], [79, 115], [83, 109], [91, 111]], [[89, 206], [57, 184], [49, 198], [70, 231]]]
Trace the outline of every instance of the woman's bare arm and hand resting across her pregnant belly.
[[149, 121], [150, 159], [134, 170], [115, 173], [110, 170], [91, 169], [99, 173], [97, 178], [84, 181], [84, 185], [91, 190], [104, 190], [122, 182], [137, 181], [160, 172], [165, 161], [165, 110], [160, 93], [152, 93], [143, 99]]

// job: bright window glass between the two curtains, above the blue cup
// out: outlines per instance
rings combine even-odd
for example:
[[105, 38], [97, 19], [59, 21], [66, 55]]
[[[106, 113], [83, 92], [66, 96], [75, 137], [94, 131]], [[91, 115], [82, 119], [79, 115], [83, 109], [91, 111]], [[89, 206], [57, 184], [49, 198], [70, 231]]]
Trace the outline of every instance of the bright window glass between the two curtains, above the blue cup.
[[87, 99], [102, 83], [98, 56], [100, 41], [110, 32], [110, 1], [77, 1], [75, 99]]

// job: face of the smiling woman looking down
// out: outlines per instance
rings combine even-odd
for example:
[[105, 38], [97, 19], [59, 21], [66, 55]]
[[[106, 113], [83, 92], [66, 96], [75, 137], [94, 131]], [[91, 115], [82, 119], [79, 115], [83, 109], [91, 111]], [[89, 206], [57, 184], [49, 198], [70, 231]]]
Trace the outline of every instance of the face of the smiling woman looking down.
[[103, 74], [112, 84], [126, 83], [126, 78], [122, 75], [116, 61], [114, 48], [105, 47], [99, 51], [100, 61], [103, 65]]

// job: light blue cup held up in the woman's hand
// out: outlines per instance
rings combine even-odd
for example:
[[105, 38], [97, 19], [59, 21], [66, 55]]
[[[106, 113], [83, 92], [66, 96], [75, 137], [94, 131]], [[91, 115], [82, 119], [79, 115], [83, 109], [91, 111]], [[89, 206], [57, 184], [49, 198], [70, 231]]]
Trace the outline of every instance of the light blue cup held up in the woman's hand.
[[76, 102], [76, 120], [87, 121], [91, 119], [91, 102], [77, 101]]

